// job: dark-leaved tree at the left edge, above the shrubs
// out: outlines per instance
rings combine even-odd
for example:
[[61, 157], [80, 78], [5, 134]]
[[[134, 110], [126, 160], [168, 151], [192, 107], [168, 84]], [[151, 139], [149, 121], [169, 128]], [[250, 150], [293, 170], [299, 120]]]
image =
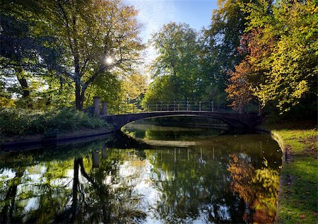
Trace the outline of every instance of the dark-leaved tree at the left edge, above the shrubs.
[[29, 107], [32, 105], [30, 78], [49, 75], [48, 66], [61, 57], [59, 47], [54, 45], [55, 38], [34, 33], [34, 23], [38, 21], [20, 20], [11, 11], [0, 11], [0, 75], [6, 81], [1, 92], [8, 94], [11, 88], [28, 101]]

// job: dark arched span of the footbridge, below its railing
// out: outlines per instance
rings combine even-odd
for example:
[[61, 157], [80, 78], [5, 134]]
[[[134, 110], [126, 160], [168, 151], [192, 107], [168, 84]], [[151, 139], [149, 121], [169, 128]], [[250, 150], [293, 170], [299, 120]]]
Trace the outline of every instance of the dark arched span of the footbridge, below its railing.
[[225, 122], [230, 127], [253, 129], [261, 124], [262, 117], [257, 114], [237, 114], [231, 112], [208, 112], [208, 111], [163, 111], [163, 112], [140, 112], [133, 114], [110, 114], [102, 115], [101, 118], [110, 124], [114, 124], [115, 131], [118, 131], [125, 124], [140, 119], [154, 117], [175, 117], [175, 116], [196, 116], [211, 117]]

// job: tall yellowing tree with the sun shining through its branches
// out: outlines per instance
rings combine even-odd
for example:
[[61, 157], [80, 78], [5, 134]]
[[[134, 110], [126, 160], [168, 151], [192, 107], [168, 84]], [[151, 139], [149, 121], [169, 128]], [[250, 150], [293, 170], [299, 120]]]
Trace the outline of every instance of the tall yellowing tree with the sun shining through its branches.
[[[112, 69], [129, 69], [143, 48], [137, 11], [121, 1], [53, 1], [47, 12], [64, 47], [64, 73], [81, 110], [88, 86]], [[49, 9], [53, 8], [54, 13]]]

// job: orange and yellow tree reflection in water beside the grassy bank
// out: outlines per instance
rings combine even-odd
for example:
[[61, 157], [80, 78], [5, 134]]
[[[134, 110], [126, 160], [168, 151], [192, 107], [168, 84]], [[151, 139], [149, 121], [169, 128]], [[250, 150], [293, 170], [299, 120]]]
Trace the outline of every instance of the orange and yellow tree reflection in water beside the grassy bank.
[[232, 189], [245, 201], [248, 209], [243, 219], [248, 223], [273, 223], [276, 215], [278, 171], [267, 167], [255, 170], [247, 156], [230, 155], [228, 171], [231, 174]]

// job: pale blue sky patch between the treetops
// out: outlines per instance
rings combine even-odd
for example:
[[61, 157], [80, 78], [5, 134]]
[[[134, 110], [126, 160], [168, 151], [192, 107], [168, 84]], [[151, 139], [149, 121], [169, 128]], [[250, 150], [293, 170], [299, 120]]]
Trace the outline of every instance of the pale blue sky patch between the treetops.
[[[201, 30], [211, 23], [212, 10], [217, 8], [217, 0], [124, 0], [138, 11], [139, 23], [143, 24], [141, 38], [147, 42], [164, 24], [188, 23], [192, 28]], [[148, 48], [146, 61], [155, 57], [155, 50]]]

